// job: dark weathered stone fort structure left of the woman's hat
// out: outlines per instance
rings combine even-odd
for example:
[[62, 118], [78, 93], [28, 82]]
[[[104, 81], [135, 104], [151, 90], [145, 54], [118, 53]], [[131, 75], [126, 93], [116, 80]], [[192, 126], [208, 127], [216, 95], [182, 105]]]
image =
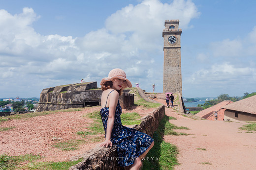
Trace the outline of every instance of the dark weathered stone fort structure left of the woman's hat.
[[101, 93], [101, 89], [97, 89], [97, 82], [69, 84], [43, 89], [36, 111], [42, 112], [98, 105]]

